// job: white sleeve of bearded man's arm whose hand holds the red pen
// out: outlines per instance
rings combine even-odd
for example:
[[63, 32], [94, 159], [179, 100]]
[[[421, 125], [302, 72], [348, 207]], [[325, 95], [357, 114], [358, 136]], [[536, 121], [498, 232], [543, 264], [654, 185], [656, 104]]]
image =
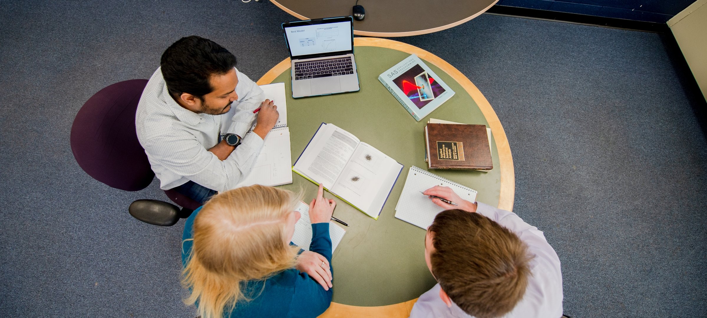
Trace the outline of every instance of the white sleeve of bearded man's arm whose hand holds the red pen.
[[165, 169], [219, 192], [232, 189], [250, 172], [263, 145], [260, 136], [247, 134], [241, 145], [221, 161], [193, 136], [185, 135], [150, 139], [144, 145], [146, 152], [151, 158], [160, 158]]

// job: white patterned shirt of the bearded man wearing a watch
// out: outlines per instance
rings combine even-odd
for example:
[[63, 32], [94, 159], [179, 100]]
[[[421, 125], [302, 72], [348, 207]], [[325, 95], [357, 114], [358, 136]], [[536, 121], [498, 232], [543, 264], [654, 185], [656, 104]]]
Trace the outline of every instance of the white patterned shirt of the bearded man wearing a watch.
[[[160, 179], [160, 188], [172, 189], [191, 180], [221, 192], [232, 189], [250, 172], [263, 139], [248, 131], [257, 117], [253, 111], [264, 95], [238, 69], [236, 76], [238, 100], [233, 101], [227, 114], [211, 115], [181, 107], [170, 96], [161, 68], [152, 74], [137, 106], [135, 127], [152, 170]], [[230, 123], [228, 116], [233, 116]], [[221, 131], [228, 124], [230, 127]], [[226, 133], [243, 136], [243, 141], [221, 161], [208, 150], [216, 146], [219, 134]]]

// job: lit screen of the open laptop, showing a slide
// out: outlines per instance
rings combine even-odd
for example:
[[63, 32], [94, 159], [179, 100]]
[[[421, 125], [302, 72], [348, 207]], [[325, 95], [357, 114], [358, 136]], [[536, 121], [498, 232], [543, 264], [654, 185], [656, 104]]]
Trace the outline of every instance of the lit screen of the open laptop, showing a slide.
[[353, 29], [351, 20], [346, 18], [284, 23], [283, 29], [291, 57], [316, 57], [352, 52]]

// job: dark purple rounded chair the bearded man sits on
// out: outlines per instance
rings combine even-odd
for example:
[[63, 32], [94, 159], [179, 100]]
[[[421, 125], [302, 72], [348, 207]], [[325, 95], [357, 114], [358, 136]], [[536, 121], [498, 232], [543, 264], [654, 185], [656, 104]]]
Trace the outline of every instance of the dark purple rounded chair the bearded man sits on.
[[[134, 79], [99, 90], [83, 104], [71, 126], [71, 151], [76, 163], [93, 179], [116, 189], [139, 191], [155, 177], [135, 131], [135, 112], [146, 85], [147, 80]], [[165, 194], [186, 209], [200, 206], [173, 190], [166, 190]], [[150, 221], [155, 218], [147, 219], [144, 221], [155, 224]]]

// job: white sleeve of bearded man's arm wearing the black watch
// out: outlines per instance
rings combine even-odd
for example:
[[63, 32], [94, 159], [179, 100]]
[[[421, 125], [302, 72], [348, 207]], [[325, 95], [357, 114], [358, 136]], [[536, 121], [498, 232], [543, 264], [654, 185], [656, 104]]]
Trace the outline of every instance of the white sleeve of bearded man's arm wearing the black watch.
[[262, 88], [244, 73], [236, 70], [236, 75], [238, 76], [238, 85], [235, 86], [235, 93], [238, 94], [238, 107], [235, 107], [228, 132], [245, 138], [245, 134], [250, 130], [257, 117], [253, 111], [257, 110], [265, 100], [265, 94]]

